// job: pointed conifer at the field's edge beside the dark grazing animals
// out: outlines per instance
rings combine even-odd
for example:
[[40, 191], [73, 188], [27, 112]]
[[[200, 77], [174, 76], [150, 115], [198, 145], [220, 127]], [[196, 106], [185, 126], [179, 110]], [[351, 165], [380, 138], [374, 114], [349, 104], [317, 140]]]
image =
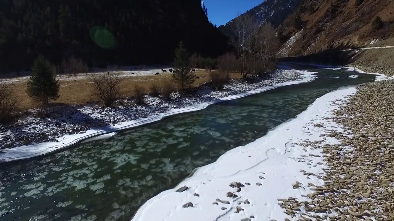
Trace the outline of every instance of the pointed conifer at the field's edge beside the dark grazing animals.
[[188, 52], [181, 41], [175, 50], [174, 72], [172, 74], [181, 91], [190, 88], [195, 81], [195, 74], [192, 72], [189, 62]]

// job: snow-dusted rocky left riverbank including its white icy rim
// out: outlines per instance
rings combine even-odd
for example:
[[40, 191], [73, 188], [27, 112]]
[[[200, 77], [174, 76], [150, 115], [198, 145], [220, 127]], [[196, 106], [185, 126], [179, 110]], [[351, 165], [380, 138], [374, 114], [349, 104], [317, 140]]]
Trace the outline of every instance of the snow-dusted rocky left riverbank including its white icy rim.
[[100, 134], [151, 123], [165, 116], [201, 110], [212, 103], [236, 99], [284, 85], [312, 81], [313, 73], [299, 70], [278, 70], [270, 80], [254, 83], [233, 81], [220, 92], [208, 86], [193, 96], [177, 96], [165, 101], [145, 97], [145, 106], [119, 106], [116, 109], [93, 106], [58, 107], [49, 118], [28, 116], [13, 125], [0, 126], [0, 162], [20, 160], [58, 151]]

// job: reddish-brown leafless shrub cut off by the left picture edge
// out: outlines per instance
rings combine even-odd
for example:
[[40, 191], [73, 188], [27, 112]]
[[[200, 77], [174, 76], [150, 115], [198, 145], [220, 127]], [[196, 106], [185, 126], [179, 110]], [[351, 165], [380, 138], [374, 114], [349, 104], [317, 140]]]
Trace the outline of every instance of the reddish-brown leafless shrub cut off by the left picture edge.
[[17, 109], [18, 101], [13, 97], [9, 84], [0, 83], [0, 122], [11, 120], [13, 112]]

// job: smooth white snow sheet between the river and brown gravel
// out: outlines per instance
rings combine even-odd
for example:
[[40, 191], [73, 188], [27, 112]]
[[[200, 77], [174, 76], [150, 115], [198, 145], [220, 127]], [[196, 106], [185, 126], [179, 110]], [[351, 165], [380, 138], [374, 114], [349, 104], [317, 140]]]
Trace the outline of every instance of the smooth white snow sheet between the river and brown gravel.
[[[384, 77], [380, 75], [377, 79]], [[339, 143], [336, 138], [322, 138], [320, 135], [327, 130], [343, 130], [330, 120], [332, 111], [356, 91], [355, 87], [346, 87], [316, 99], [296, 119], [282, 123], [255, 142], [228, 151], [216, 162], [197, 169], [175, 189], [153, 197], [143, 204], [132, 220], [251, 221], [291, 218], [278, 205], [280, 199], [294, 197], [299, 202], [309, 201], [303, 195], [312, 193], [310, 188], [314, 185], [324, 186], [319, 178], [326, 168], [323, 153], [321, 149], [307, 147], [306, 143]], [[232, 182], [242, 183], [239, 192], [230, 186]], [[176, 192], [184, 186], [188, 189]], [[235, 196], [228, 197], [232, 194]]]

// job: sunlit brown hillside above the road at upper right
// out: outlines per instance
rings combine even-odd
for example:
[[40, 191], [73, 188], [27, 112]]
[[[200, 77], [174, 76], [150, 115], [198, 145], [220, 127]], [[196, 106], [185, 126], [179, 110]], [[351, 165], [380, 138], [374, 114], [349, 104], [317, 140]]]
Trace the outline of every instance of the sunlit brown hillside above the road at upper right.
[[[296, 17], [302, 18], [297, 27]], [[375, 29], [372, 21], [383, 20]], [[393, 0], [304, 0], [282, 24], [284, 44], [279, 56], [296, 56], [335, 48], [366, 46], [394, 36]]]

